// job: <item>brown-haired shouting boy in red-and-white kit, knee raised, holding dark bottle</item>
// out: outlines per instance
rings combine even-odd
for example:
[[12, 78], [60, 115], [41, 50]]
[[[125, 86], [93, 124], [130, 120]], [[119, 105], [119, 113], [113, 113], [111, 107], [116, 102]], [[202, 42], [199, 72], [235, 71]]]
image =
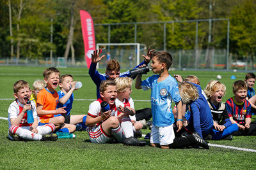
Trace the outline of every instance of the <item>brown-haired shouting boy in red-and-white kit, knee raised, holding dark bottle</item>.
[[[87, 131], [92, 143], [108, 143], [117, 139], [119, 143], [124, 145], [145, 146], [145, 141], [140, 141], [133, 137], [132, 123], [129, 118], [122, 120], [122, 128], [117, 114], [116, 99], [116, 83], [113, 80], [104, 80], [100, 83], [100, 98], [89, 106], [88, 117], [86, 118]], [[106, 101], [110, 110], [102, 113], [100, 104]], [[125, 139], [123, 141], [123, 131]]]

